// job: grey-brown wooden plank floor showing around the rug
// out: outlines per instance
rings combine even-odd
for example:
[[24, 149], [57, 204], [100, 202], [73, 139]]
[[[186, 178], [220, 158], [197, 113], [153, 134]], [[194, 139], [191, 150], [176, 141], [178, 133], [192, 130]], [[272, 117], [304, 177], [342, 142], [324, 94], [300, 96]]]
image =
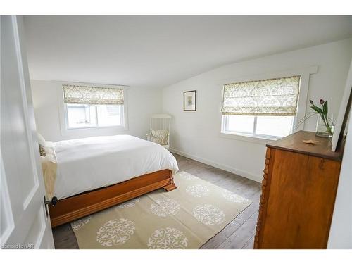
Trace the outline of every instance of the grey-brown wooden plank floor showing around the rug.
[[[230, 222], [224, 230], [204, 244], [201, 249], [253, 249], [261, 191], [260, 183], [177, 154], [174, 154], [174, 156], [180, 170], [189, 172], [253, 201], [249, 207]], [[55, 227], [53, 234], [56, 249], [78, 249], [77, 240], [70, 224]]]

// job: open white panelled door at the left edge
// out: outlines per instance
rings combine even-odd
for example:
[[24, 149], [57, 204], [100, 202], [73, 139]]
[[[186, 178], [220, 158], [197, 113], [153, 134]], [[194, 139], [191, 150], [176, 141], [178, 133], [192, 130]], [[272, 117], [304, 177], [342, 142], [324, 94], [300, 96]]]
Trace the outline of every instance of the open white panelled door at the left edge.
[[1, 16], [1, 248], [54, 249], [44, 207], [23, 19]]

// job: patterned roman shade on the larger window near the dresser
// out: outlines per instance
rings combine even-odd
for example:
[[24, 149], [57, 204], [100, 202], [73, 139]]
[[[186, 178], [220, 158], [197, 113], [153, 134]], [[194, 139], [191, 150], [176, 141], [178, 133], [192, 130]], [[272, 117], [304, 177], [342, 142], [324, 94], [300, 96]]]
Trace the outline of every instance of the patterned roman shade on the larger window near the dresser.
[[301, 76], [225, 84], [222, 115], [296, 115]]

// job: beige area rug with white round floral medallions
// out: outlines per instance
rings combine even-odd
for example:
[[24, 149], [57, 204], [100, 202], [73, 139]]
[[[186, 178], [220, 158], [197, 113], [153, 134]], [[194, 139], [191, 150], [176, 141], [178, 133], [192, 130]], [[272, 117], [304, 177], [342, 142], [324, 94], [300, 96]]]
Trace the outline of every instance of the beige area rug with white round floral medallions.
[[252, 203], [187, 172], [174, 180], [72, 222], [80, 249], [199, 249]]

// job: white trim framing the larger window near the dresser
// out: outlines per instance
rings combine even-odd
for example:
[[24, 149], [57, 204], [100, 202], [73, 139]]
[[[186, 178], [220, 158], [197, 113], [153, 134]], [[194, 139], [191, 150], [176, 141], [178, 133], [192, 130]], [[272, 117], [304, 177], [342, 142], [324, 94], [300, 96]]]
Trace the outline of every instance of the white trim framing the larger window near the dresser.
[[[307, 98], [308, 98], [308, 89], [309, 89], [309, 78], [311, 74], [318, 73], [318, 66], [310, 66], [301, 69], [293, 69], [293, 70], [285, 70], [279, 73], [267, 73], [263, 75], [252, 75], [246, 77], [239, 77], [237, 79], [230, 79], [230, 80], [221, 80], [218, 82], [219, 86], [221, 87], [220, 91], [222, 91], [222, 86], [227, 83], [234, 83], [234, 82], [246, 82], [250, 80], [265, 80], [265, 79], [272, 79], [272, 78], [280, 78], [280, 77], [288, 77], [294, 75], [301, 75], [301, 85], [298, 95], [298, 103], [297, 103], [297, 115], [294, 118], [293, 124], [293, 132], [304, 130], [305, 122], [302, 122], [301, 125], [296, 127], [297, 122], [302, 120], [304, 115], [306, 115], [306, 107], [307, 107]], [[222, 92], [220, 101], [222, 102]], [[261, 135], [253, 135], [253, 134], [244, 134], [239, 132], [228, 132], [224, 130], [224, 122], [222, 113], [220, 111], [220, 137], [227, 138], [227, 139], [237, 139], [246, 142], [253, 142], [257, 144], [268, 144], [270, 142], [274, 142], [281, 137], [273, 137], [273, 136], [261, 136]]]

